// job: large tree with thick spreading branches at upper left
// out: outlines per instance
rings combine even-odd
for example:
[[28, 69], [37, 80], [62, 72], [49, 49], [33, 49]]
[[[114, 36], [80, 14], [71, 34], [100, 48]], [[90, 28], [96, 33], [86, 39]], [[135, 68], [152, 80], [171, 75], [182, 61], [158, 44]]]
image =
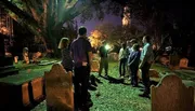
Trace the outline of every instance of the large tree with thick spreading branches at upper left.
[[[100, 9], [98, 6], [100, 2], [103, 0], [1, 0], [0, 4], [6, 9], [13, 19], [35, 36], [42, 37], [47, 46], [56, 52], [57, 40], [62, 38], [62, 31], [65, 31], [63, 24], [68, 24], [68, 27], [73, 29], [73, 19], [89, 11], [92, 5]], [[87, 19], [90, 16], [88, 14], [82, 18]], [[73, 31], [76, 33], [75, 29]]]

